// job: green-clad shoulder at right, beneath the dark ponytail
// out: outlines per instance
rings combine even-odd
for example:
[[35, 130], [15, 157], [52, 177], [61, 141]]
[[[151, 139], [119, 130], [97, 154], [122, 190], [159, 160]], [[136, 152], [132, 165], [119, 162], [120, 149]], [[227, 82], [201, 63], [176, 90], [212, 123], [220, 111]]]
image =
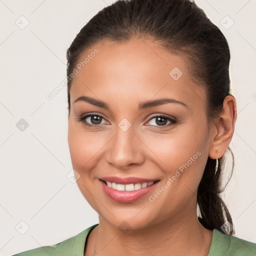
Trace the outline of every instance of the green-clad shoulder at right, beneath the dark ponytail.
[[256, 243], [213, 229], [208, 256], [255, 256]]

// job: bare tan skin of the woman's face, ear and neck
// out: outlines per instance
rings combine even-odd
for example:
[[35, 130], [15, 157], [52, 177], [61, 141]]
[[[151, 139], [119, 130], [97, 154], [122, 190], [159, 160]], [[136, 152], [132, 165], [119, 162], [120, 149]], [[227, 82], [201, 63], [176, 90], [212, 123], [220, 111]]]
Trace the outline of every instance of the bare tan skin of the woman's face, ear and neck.
[[[193, 82], [183, 56], [149, 39], [105, 41], [84, 56], [95, 48], [99, 52], [73, 78], [68, 118], [76, 182], [99, 214], [99, 225], [90, 232], [84, 255], [208, 255], [212, 231], [197, 219], [197, 187], [207, 157], [221, 157], [232, 138], [235, 99], [227, 96], [219, 117], [208, 121], [204, 87]], [[183, 73], [178, 80], [169, 75], [174, 67]], [[86, 101], [73, 103], [79, 96], [102, 100], [110, 109]], [[137, 109], [143, 101], [163, 97], [182, 101], [187, 107], [165, 103]], [[101, 122], [95, 124], [88, 117], [87, 122], [95, 126], [87, 127], [77, 120], [89, 113], [102, 116]], [[161, 128], [152, 117], [162, 114], [174, 117], [176, 124], [164, 119]], [[123, 118], [131, 124], [126, 131], [118, 126]], [[200, 156], [154, 202], [149, 201], [197, 151]], [[112, 175], [160, 181], [142, 198], [120, 203], [104, 193], [98, 180]], [[119, 226], [123, 221], [129, 230]]]

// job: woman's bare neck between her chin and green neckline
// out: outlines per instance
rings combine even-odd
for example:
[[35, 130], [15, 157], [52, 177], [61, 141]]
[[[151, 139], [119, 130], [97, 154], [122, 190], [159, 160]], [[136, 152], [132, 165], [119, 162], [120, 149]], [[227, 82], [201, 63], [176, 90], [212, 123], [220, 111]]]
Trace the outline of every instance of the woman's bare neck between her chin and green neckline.
[[115, 255], [207, 256], [212, 238], [212, 231], [200, 224], [196, 213], [126, 232], [99, 216], [99, 225], [92, 231], [86, 256], [108, 256], [113, 251]]

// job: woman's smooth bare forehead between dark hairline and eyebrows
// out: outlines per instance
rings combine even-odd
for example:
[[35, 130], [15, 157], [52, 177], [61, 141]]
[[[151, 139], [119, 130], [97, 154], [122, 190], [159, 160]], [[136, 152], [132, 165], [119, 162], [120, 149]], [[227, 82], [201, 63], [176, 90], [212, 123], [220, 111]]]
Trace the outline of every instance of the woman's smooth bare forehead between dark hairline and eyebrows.
[[106, 40], [87, 49], [79, 63], [70, 89], [71, 101], [81, 95], [107, 97], [110, 106], [167, 95], [187, 103], [198, 103], [199, 98], [205, 101], [203, 88], [191, 79], [187, 59], [152, 40]]

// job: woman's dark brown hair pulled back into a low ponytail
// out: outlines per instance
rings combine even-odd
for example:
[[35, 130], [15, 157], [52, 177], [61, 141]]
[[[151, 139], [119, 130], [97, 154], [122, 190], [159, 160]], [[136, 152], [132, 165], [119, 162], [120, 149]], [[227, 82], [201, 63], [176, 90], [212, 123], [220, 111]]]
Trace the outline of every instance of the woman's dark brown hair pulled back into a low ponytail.
[[[94, 15], [80, 29], [66, 51], [68, 117], [72, 84], [70, 74], [82, 54], [105, 40], [125, 42], [132, 38], [151, 38], [170, 52], [183, 54], [191, 77], [205, 89], [208, 118], [214, 118], [221, 112], [225, 96], [231, 95], [230, 52], [226, 38], [204, 11], [189, 0], [118, 0]], [[228, 151], [231, 152], [229, 147]], [[232, 152], [231, 155], [233, 160]], [[228, 221], [231, 227], [233, 222], [220, 197], [224, 189], [220, 182], [224, 162], [221, 158], [215, 173], [216, 160], [208, 157], [198, 186], [197, 203], [202, 216], [201, 224], [223, 232], [221, 227], [224, 222]], [[233, 164], [231, 174], [232, 171]], [[232, 235], [234, 229], [225, 232]]]

